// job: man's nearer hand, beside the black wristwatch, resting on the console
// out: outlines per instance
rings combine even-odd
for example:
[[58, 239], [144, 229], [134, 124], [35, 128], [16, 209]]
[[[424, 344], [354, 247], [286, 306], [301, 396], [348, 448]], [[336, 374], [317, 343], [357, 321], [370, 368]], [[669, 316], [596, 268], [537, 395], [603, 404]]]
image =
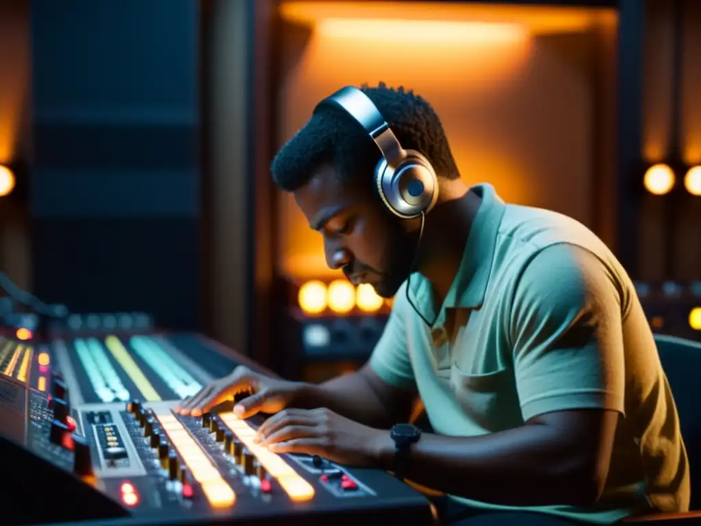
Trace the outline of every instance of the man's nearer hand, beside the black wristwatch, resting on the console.
[[363, 426], [331, 410], [286, 409], [268, 418], [257, 440], [275, 453], [318, 454], [340, 464], [373, 466], [394, 449], [389, 431]]

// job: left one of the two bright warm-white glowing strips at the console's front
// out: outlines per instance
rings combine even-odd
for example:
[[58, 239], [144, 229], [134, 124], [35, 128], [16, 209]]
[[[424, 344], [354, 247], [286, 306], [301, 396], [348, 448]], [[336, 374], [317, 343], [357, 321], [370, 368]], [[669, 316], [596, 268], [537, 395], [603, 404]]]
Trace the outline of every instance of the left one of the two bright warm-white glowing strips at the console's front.
[[236, 493], [222, 478], [219, 470], [182, 423], [170, 413], [156, 414], [163, 431], [190, 470], [192, 477], [200, 483], [202, 491], [212, 508], [229, 508], [236, 501]]

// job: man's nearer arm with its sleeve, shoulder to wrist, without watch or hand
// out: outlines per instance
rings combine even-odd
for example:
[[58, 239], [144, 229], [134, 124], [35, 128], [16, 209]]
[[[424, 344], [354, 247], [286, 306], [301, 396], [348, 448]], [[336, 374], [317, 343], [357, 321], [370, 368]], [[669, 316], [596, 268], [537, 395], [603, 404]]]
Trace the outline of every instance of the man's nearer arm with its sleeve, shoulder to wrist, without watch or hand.
[[[588, 506], [604, 487], [624, 363], [620, 294], [599, 260], [557, 245], [524, 271], [510, 338], [524, 426], [477, 437], [424, 434], [407, 478], [494, 504]], [[380, 435], [379, 461], [394, 445]]]

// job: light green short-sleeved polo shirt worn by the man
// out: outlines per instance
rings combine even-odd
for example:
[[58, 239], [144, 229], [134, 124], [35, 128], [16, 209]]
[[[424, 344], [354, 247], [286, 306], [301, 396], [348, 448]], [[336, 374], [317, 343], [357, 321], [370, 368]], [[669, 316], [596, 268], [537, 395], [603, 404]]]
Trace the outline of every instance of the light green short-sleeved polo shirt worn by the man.
[[[494, 510], [611, 523], [651, 507], [686, 511], [689, 468], [679, 417], [632, 282], [597, 236], [547, 210], [506, 205], [489, 184], [440, 309], [421, 274], [402, 285], [370, 365], [416, 387], [435, 433], [477, 436], [539, 414], [621, 414], [606, 487], [594, 508]], [[469, 477], [469, 473], [465, 473]], [[479, 480], [475, 480], [479, 484]]]

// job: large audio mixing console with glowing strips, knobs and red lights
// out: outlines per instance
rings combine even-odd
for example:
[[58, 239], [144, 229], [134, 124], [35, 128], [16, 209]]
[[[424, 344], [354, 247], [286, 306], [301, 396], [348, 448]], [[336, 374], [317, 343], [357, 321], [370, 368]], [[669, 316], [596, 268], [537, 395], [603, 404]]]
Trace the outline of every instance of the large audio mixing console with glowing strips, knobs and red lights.
[[[172, 408], [246, 358], [198, 335], [64, 332], [0, 337], [3, 524], [308, 524], [433, 521], [388, 473], [253, 442], [231, 402]], [[92, 522], [90, 522], [92, 521]]]

